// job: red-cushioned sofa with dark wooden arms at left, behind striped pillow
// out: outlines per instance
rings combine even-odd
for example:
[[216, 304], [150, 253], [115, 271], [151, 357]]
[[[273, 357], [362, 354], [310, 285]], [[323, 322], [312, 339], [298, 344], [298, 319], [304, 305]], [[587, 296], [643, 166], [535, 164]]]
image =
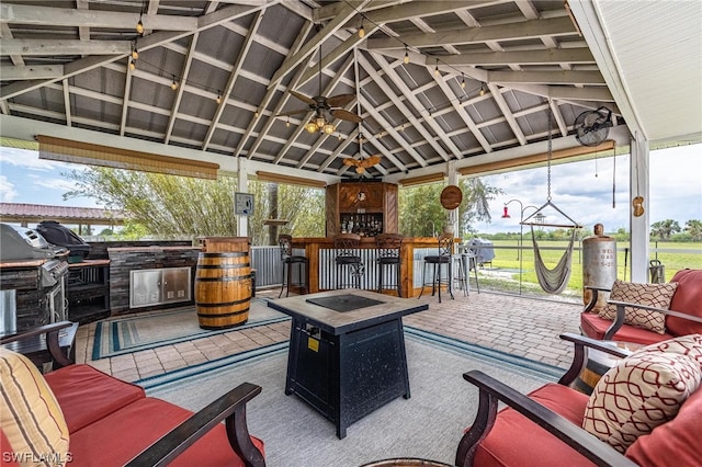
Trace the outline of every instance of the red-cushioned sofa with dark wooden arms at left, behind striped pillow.
[[[66, 321], [42, 329], [50, 334], [63, 326]], [[49, 350], [65, 360], [57, 348]], [[90, 365], [68, 365], [44, 379], [68, 428], [68, 465], [265, 465], [263, 442], [249, 435], [246, 423], [246, 405], [261, 391], [259, 386], [245, 383], [193, 414]], [[5, 455], [5, 433], [0, 435], [3, 465], [18, 465], [5, 464], [12, 457]]]

